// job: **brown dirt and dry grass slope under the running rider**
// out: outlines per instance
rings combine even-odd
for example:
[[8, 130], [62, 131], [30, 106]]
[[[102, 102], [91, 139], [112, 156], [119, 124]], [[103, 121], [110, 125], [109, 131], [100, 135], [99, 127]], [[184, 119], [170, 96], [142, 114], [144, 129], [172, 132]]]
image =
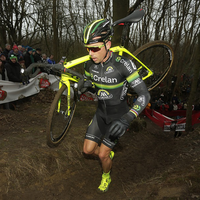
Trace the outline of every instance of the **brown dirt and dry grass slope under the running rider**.
[[100, 163], [82, 154], [96, 103], [78, 103], [70, 133], [52, 149], [45, 137], [52, 98], [45, 90], [15, 111], [0, 109], [0, 199], [200, 199], [198, 126], [174, 139], [174, 133], [163, 132], [141, 116], [143, 129], [137, 131], [134, 124], [115, 147], [112, 183], [100, 194]]

